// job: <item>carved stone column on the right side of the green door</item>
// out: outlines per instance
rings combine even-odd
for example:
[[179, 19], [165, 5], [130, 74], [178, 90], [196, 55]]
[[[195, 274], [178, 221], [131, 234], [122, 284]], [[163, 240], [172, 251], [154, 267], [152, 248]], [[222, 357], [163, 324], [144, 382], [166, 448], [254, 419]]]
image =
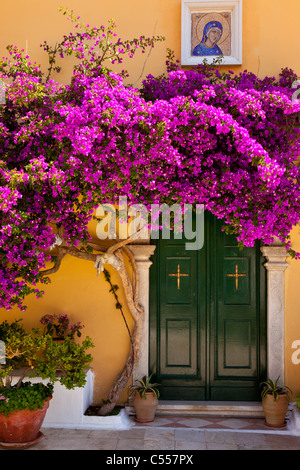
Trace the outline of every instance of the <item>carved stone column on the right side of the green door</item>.
[[284, 271], [288, 263], [282, 246], [264, 246], [262, 254], [267, 258], [267, 358], [268, 378], [284, 382]]

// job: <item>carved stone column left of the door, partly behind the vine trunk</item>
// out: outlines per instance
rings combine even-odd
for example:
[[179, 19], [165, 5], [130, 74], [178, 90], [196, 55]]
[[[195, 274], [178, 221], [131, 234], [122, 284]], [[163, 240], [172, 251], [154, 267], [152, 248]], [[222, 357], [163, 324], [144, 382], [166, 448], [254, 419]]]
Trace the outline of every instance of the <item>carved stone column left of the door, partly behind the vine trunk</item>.
[[138, 302], [144, 308], [143, 342], [140, 358], [133, 371], [133, 380], [141, 379], [149, 373], [149, 268], [152, 265], [150, 256], [154, 254], [155, 245], [128, 245], [132, 251], [139, 273], [139, 299]]

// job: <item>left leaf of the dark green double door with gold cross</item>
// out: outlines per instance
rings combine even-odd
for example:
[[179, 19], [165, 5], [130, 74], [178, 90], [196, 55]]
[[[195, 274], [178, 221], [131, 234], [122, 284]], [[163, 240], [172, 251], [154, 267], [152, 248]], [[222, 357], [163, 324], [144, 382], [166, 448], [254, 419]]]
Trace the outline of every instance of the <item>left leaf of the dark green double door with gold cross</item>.
[[[180, 240], [161, 240], [157, 247], [157, 357], [162, 398], [205, 397], [198, 308], [198, 256]], [[174, 386], [174, 384], [176, 384]]]

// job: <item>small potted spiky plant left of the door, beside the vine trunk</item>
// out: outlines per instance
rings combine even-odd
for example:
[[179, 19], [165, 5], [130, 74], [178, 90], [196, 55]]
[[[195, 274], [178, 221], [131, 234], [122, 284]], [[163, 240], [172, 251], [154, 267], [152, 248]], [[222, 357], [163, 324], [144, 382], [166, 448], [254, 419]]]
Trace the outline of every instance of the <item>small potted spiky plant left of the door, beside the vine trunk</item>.
[[136, 421], [140, 423], [150, 423], [154, 421], [156, 408], [158, 405], [159, 391], [157, 383], [151, 384], [146, 375], [142, 380], [137, 380], [135, 385], [129, 387], [130, 395], [133, 395], [133, 406], [136, 414]]

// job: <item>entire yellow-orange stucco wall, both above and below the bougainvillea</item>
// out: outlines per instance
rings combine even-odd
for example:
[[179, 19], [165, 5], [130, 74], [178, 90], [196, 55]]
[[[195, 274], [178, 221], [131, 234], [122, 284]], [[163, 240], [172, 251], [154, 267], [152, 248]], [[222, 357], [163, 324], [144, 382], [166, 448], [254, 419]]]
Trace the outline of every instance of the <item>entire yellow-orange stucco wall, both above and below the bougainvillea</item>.
[[[5, 46], [15, 44], [27, 48], [33, 60], [46, 67], [46, 55], [39, 47], [47, 40], [54, 44], [72, 29], [70, 22], [58, 12], [59, 6], [73, 9], [82, 21], [100, 25], [114, 18], [120, 37], [163, 35], [148, 58], [144, 75], [165, 71], [166, 48], [180, 58], [181, 1], [180, 0], [15, 0], [1, 2], [0, 54]], [[282, 67], [291, 67], [300, 75], [300, 41], [298, 21], [299, 0], [244, 0], [243, 2], [243, 64], [231, 66], [235, 72], [247, 69], [259, 76], [277, 75]], [[124, 64], [130, 71], [130, 82], [138, 86], [145, 55], [138, 55]], [[66, 82], [70, 74], [70, 59], [66, 69], [57, 78]], [[139, 81], [137, 81], [139, 80]], [[293, 231], [293, 246], [300, 250], [299, 229]], [[285, 273], [285, 381], [300, 392], [300, 364], [292, 362], [292, 343], [300, 341], [300, 261], [289, 260]], [[114, 282], [117, 274], [111, 270]], [[28, 312], [0, 311], [0, 320], [23, 317], [26, 325], [38, 326], [39, 318], [46, 313], [67, 313], [74, 321], [82, 321], [85, 333], [95, 342], [93, 369], [96, 373], [95, 401], [106, 393], [118, 371], [122, 368], [129, 349], [128, 337], [120, 313], [114, 308], [114, 299], [108, 292], [103, 277], [97, 278], [92, 263], [66, 257], [60, 271], [52, 276], [51, 285], [45, 288], [43, 299], [28, 299]], [[121, 302], [124, 298], [121, 298]], [[128, 318], [130, 317], [128, 315]], [[129, 318], [130, 321], [130, 318]], [[123, 394], [122, 399], [126, 396]]]

